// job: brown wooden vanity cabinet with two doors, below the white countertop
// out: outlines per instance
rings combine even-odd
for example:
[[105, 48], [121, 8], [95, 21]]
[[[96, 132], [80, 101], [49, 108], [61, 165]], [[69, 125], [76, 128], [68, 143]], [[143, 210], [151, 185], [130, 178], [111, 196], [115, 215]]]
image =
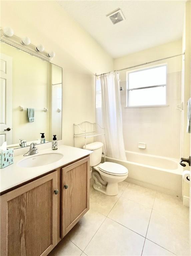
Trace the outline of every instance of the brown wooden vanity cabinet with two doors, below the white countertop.
[[48, 255], [89, 209], [89, 157], [1, 195], [0, 203], [0, 255]]

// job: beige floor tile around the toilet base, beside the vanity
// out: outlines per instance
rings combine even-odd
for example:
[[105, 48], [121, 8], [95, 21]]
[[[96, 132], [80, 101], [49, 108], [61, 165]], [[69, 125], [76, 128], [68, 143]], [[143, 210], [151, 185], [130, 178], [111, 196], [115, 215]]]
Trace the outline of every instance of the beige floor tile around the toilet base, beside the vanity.
[[93, 179], [90, 180], [90, 209], [98, 211], [99, 213], [107, 216], [111, 211], [117, 200], [119, 199], [122, 192], [128, 186], [128, 182], [120, 182], [119, 194], [116, 196], [107, 196], [93, 188]]

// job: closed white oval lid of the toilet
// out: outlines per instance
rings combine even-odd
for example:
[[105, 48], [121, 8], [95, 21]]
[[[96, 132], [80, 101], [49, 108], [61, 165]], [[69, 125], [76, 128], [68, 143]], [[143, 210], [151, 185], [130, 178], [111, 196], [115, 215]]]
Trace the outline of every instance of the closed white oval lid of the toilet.
[[128, 173], [128, 169], [125, 166], [112, 162], [105, 162], [103, 164], [100, 164], [99, 169], [102, 172], [113, 175], [125, 175]]

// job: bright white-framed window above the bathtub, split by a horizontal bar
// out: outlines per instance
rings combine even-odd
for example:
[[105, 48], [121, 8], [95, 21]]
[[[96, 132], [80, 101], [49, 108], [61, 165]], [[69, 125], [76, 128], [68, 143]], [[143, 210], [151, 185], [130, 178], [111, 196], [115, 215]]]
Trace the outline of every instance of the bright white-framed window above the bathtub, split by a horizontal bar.
[[166, 105], [167, 65], [127, 72], [127, 107]]

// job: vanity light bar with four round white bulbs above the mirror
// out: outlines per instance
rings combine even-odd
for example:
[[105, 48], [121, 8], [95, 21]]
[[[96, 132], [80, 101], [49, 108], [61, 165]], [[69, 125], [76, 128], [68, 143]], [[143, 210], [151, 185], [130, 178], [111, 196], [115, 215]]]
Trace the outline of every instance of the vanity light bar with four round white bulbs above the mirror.
[[20, 38], [14, 35], [12, 28], [5, 27], [0, 29], [0, 41], [10, 44], [20, 50], [28, 52], [31, 55], [39, 57], [46, 61], [51, 61], [51, 59], [55, 56], [54, 51], [45, 52], [44, 46], [42, 44], [38, 44], [37, 46], [30, 43], [29, 37]]

